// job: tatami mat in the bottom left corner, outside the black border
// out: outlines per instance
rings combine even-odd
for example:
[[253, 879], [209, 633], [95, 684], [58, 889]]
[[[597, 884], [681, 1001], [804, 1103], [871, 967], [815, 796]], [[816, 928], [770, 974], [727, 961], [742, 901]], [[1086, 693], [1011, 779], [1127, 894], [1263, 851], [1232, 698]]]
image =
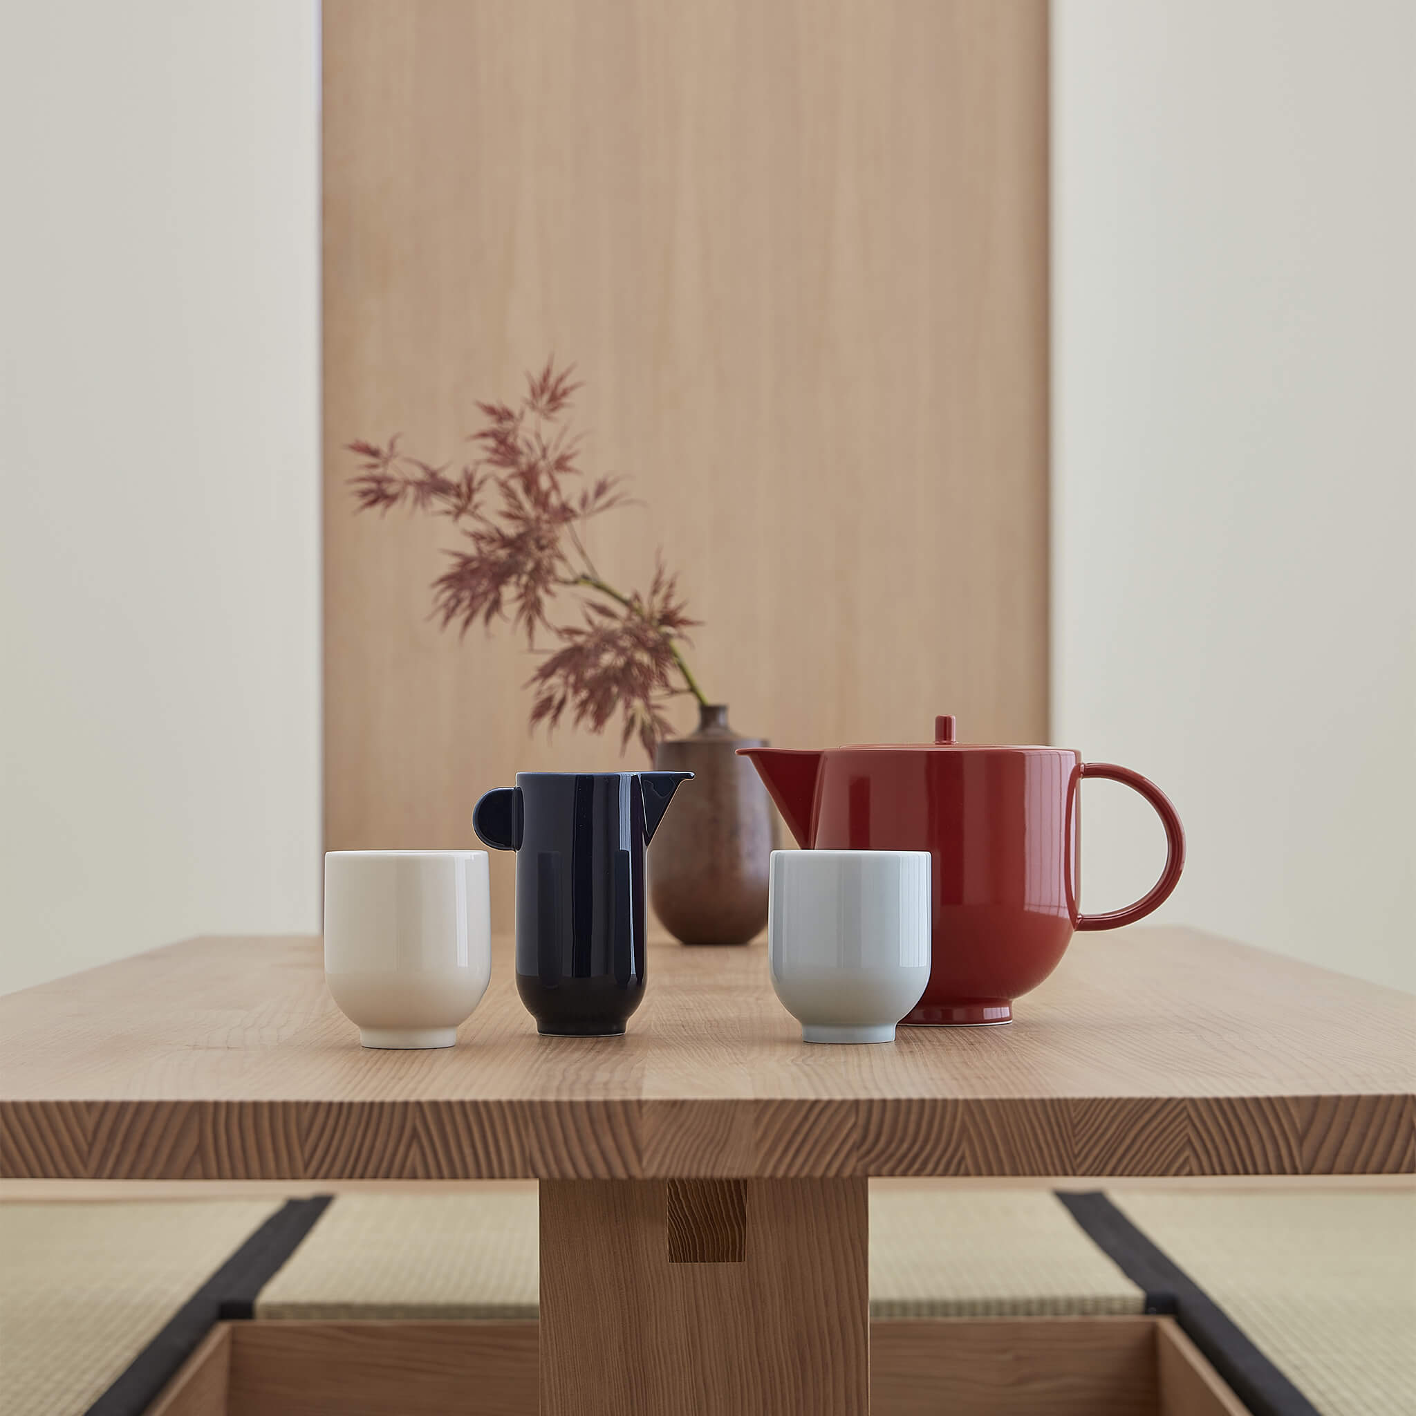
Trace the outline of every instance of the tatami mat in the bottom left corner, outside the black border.
[[0, 1416], [78, 1416], [279, 1199], [0, 1205]]

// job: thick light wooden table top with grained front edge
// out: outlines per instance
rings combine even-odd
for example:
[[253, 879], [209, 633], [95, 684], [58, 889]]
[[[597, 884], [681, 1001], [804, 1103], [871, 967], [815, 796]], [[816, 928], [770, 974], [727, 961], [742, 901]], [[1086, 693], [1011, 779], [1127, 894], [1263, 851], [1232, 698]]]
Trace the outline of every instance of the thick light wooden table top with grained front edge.
[[542, 1038], [510, 940], [456, 1048], [370, 1052], [317, 939], [0, 998], [0, 1175], [460, 1180], [1416, 1170], [1416, 998], [1188, 929], [1073, 940], [995, 1028], [807, 1046], [765, 946], [651, 944], [622, 1038]]

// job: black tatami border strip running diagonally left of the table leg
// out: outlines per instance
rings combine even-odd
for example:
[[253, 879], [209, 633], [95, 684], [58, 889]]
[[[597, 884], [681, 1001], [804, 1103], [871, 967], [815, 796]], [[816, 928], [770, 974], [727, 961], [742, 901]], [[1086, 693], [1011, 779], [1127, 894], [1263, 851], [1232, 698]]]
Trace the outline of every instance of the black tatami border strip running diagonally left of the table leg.
[[171, 1315], [86, 1416], [142, 1416], [215, 1323], [253, 1315], [261, 1290], [314, 1228], [331, 1198], [287, 1199]]

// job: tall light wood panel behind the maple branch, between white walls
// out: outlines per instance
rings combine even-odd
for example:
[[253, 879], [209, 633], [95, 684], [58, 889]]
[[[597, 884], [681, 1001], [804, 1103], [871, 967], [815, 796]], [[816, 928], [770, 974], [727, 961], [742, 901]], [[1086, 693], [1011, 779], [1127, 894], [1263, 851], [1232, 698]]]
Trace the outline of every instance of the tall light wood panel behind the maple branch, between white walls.
[[619, 763], [528, 733], [524, 644], [429, 620], [442, 523], [346, 484], [358, 435], [464, 457], [551, 351], [643, 498], [600, 571], [663, 547], [742, 731], [1045, 741], [1046, 108], [1044, 0], [327, 0], [329, 847]]

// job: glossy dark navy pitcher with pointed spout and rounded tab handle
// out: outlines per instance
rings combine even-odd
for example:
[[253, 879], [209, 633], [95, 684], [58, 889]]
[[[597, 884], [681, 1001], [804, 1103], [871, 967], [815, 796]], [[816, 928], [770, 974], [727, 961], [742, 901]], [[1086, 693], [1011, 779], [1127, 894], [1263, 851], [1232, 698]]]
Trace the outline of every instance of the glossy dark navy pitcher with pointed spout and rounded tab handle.
[[472, 826], [517, 852], [517, 993], [541, 1032], [609, 1037], [644, 997], [644, 847], [691, 772], [518, 772]]

